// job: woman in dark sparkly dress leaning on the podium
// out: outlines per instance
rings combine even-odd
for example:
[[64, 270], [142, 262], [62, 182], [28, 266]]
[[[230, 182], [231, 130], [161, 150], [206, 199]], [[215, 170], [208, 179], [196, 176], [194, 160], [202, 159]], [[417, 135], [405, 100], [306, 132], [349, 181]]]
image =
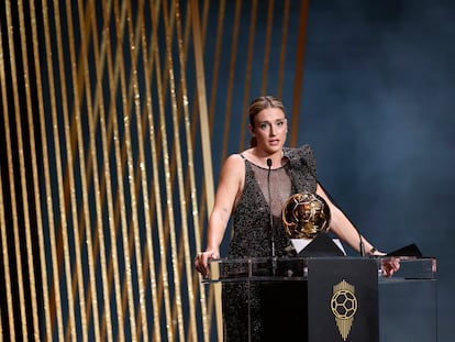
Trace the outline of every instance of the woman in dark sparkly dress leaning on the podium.
[[[270, 96], [253, 100], [249, 106], [248, 130], [252, 134], [251, 147], [229, 156], [222, 166], [215, 202], [209, 219], [207, 249], [195, 260], [197, 271], [207, 276], [208, 260], [220, 257], [220, 244], [231, 214], [233, 238], [229, 257], [286, 255], [289, 238], [281, 227], [281, 208], [297, 192], [315, 192], [321, 196], [331, 210], [330, 230], [360, 252], [357, 230], [318, 184], [315, 159], [310, 146], [284, 146], [288, 123], [282, 103]], [[274, 243], [270, 243], [271, 239]], [[365, 239], [363, 244], [370, 255], [384, 254], [376, 251]], [[387, 272], [391, 275], [393, 268]], [[223, 285], [225, 341], [243, 341], [249, 329], [253, 337], [260, 340], [259, 289], [255, 286], [246, 289], [245, 286]], [[252, 317], [257, 318], [251, 321], [249, 327], [246, 326], [248, 310]]]

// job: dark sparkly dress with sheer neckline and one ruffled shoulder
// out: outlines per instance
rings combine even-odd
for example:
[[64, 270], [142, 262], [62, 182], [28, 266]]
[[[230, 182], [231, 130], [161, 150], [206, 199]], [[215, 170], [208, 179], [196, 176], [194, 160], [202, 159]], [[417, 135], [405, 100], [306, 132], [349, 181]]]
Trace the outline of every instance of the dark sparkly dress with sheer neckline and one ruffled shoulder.
[[[243, 157], [243, 156], [242, 156]], [[232, 214], [229, 258], [285, 256], [290, 241], [281, 225], [281, 208], [297, 192], [315, 192], [315, 159], [309, 145], [284, 148], [284, 165], [270, 170], [245, 159], [245, 185]], [[269, 203], [271, 198], [271, 205]], [[270, 208], [273, 224], [270, 224]], [[270, 228], [271, 225], [271, 228]], [[223, 283], [224, 341], [262, 341], [260, 289], [257, 283]], [[249, 306], [248, 306], [249, 302]], [[248, 312], [251, 321], [248, 322]], [[279, 312], [278, 312], [279, 315]]]

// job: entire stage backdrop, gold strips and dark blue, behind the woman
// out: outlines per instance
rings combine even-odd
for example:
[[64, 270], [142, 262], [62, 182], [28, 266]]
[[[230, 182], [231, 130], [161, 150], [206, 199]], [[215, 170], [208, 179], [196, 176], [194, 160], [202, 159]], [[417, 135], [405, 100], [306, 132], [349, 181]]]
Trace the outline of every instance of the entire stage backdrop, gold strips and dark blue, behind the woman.
[[247, 145], [248, 102], [270, 93], [289, 145], [312, 144], [367, 238], [439, 258], [448, 341], [453, 14], [420, 0], [3, 1], [0, 335], [221, 340], [219, 289], [192, 258], [221, 163]]

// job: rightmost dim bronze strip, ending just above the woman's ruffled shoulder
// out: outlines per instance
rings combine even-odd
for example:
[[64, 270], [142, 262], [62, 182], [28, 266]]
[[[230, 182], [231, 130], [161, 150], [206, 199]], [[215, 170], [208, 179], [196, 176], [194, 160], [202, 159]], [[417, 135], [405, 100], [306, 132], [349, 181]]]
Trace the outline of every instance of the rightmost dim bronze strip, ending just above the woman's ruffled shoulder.
[[299, 119], [300, 119], [300, 99], [302, 96], [302, 82], [303, 82], [303, 57], [304, 57], [304, 43], [307, 36], [308, 24], [308, 1], [303, 0], [300, 7], [299, 18], [299, 35], [297, 38], [297, 55], [296, 55], [296, 79], [293, 82], [292, 93], [292, 113], [291, 113], [291, 130], [289, 145], [295, 146], [299, 136]]

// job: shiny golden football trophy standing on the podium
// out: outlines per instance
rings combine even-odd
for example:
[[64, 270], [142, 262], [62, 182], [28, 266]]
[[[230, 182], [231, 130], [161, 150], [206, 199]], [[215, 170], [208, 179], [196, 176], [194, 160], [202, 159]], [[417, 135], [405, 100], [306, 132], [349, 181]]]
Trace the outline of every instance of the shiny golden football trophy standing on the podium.
[[328, 203], [317, 194], [295, 194], [281, 211], [282, 225], [291, 239], [314, 239], [328, 232], [330, 219]]

